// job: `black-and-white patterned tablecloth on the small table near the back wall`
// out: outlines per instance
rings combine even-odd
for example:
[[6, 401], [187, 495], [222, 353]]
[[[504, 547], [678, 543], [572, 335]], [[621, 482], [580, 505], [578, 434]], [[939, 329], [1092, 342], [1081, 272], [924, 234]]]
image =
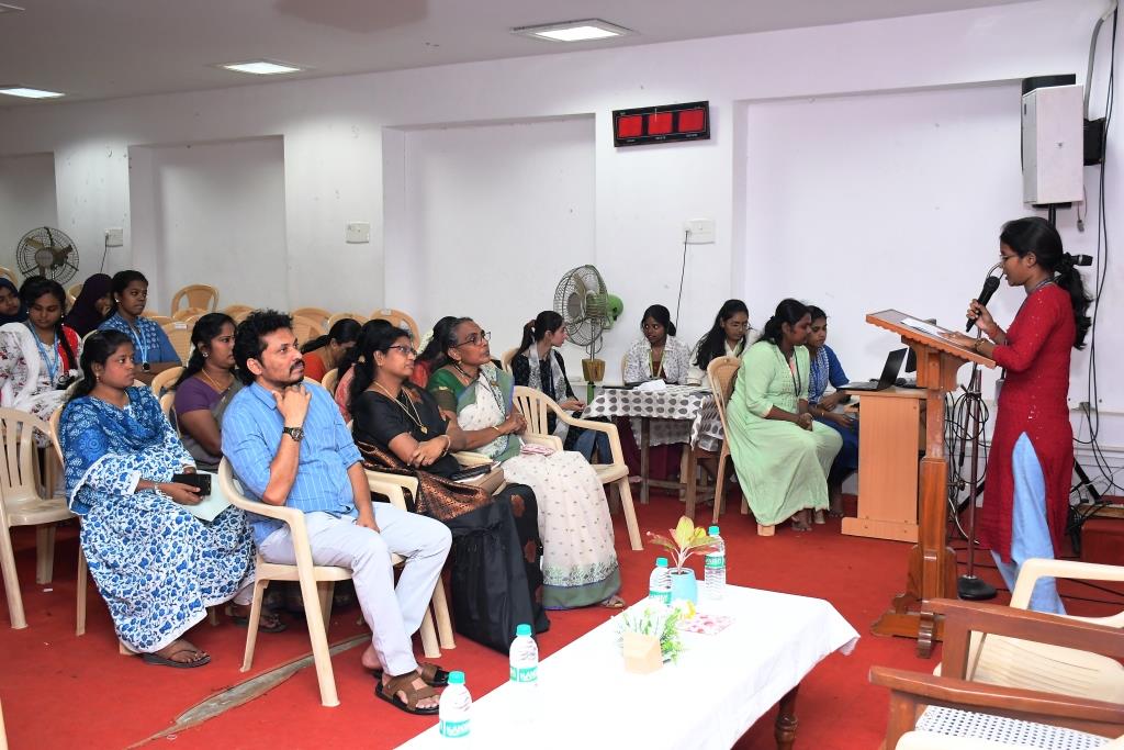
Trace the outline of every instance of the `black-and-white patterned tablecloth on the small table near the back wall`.
[[638, 417], [649, 417], [649, 444], [690, 443], [706, 451], [722, 448], [725, 434], [714, 394], [700, 386], [668, 386], [664, 390], [598, 388], [583, 417], [633, 417], [640, 444]]

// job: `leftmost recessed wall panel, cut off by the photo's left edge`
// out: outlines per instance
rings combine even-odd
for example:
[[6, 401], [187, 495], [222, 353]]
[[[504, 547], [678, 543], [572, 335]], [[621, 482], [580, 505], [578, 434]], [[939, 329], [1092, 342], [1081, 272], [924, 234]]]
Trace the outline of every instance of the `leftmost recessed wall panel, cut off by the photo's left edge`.
[[[40, 226], [58, 226], [54, 154], [0, 159], [0, 265], [15, 270], [20, 237]], [[80, 256], [83, 250], [92, 252], [81, 247]]]

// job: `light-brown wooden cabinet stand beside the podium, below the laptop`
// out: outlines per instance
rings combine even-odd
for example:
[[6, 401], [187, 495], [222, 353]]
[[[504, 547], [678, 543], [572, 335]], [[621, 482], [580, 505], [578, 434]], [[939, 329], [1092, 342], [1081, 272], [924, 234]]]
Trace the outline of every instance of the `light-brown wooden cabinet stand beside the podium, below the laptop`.
[[850, 536], [917, 541], [917, 451], [926, 391], [855, 391], [859, 419], [859, 515], [843, 518]]

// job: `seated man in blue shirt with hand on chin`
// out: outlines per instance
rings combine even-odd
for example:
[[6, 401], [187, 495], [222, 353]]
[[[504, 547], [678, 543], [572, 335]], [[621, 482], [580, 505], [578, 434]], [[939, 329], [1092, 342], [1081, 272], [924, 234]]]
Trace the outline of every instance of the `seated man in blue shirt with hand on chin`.
[[[381, 670], [375, 695], [408, 713], [437, 713], [433, 686], [447, 681], [447, 672], [436, 665], [419, 672], [410, 635], [422, 625], [448, 555], [448, 530], [371, 501], [339, 409], [326, 390], [303, 382], [292, 318], [251, 313], [235, 332], [234, 358], [246, 387], [223, 418], [223, 453], [250, 495], [305, 513], [316, 564], [351, 569], [373, 633], [361, 662]], [[252, 525], [263, 559], [294, 563], [288, 526], [264, 516]], [[391, 552], [406, 558], [397, 587]]]

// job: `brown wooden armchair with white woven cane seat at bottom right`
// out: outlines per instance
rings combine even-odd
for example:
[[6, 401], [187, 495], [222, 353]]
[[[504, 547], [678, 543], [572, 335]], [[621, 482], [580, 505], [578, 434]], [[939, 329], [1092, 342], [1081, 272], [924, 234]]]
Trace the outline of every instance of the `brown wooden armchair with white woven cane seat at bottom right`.
[[[870, 681], [890, 690], [889, 721], [882, 746], [887, 750], [981, 747], [976, 741], [987, 739], [987, 735], [979, 729], [978, 714], [1036, 722], [1097, 737], [1117, 738], [1124, 734], [1124, 705], [1120, 703], [966, 679], [972, 632], [1088, 650], [1121, 659], [1124, 658], [1124, 632], [1121, 630], [992, 604], [935, 599], [931, 606], [937, 615], [944, 616], [942, 675], [886, 667], [870, 670]], [[950, 712], [958, 713], [950, 715]], [[952, 724], [959, 726], [958, 735], [950, 734]], [[1001, 720], [991, 723], [992, 726], [1005, 724]], [[915, 726], [919, 729], [915, 731]], [[976, 744], [957, 744], [960, 737]], [[903, 739], [905, 742], [899, 744]]]

